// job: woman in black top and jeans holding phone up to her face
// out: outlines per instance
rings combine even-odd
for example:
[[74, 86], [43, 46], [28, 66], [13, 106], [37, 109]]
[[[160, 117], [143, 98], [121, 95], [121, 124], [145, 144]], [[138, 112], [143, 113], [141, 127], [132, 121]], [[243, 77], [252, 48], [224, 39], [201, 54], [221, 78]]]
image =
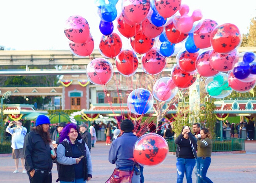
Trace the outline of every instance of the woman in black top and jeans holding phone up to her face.
[[183, 126], [182, 132], [174, 142], [178, 145], [176, 150], [177, 183], [183, 182], [185, 173], [187, 183], [192, 183], [192, 172], [197, 159], [195, 151], [197, 139], [188, 126]]

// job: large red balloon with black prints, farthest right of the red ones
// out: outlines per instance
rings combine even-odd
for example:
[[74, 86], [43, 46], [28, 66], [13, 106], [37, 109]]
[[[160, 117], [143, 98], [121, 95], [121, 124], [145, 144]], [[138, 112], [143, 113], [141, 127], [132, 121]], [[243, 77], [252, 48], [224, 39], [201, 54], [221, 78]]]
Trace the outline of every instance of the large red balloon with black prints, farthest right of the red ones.
[[222, 24], [211, 33], [211, 45], [218, 53], [229, 53], [241, 42], [241, 33], [234, 24]]

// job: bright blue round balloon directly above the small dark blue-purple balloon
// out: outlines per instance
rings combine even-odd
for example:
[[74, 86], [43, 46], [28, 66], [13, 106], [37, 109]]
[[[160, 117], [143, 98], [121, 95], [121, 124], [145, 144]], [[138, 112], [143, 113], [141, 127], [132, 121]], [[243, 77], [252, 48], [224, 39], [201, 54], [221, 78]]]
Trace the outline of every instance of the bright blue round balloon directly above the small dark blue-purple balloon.
[[101, 7], [101, 18], [104, 21], [112, 22], [117, 18], [117, 9], [114, 5], [108, 4]]

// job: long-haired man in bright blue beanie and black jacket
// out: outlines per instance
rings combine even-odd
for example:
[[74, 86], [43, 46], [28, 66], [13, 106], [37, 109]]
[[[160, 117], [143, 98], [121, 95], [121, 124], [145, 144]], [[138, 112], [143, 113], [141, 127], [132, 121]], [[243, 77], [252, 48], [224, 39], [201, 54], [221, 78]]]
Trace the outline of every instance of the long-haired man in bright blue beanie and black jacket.
[[23, 157], [30, 183], [52, 183], [56, 156], [51, 154], [49, 124], [47, 116], [39, 115], [35, 127], [24, 138]]

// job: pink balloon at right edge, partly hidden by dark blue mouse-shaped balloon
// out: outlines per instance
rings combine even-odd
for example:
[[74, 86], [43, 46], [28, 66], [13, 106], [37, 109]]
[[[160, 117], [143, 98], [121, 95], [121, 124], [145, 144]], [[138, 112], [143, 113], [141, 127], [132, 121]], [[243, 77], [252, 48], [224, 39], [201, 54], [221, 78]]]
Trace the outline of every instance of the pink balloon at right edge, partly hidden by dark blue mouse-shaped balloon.
[[229, 71], [228, 75], [228, 83], [230, 88], [232, 88], [236, 92], [244, 93], [251, 91], [256, 85], [256, 80], [253, 80], [251, 82], [242, 82], [241, 80], [237, 79], [233, 71]]

